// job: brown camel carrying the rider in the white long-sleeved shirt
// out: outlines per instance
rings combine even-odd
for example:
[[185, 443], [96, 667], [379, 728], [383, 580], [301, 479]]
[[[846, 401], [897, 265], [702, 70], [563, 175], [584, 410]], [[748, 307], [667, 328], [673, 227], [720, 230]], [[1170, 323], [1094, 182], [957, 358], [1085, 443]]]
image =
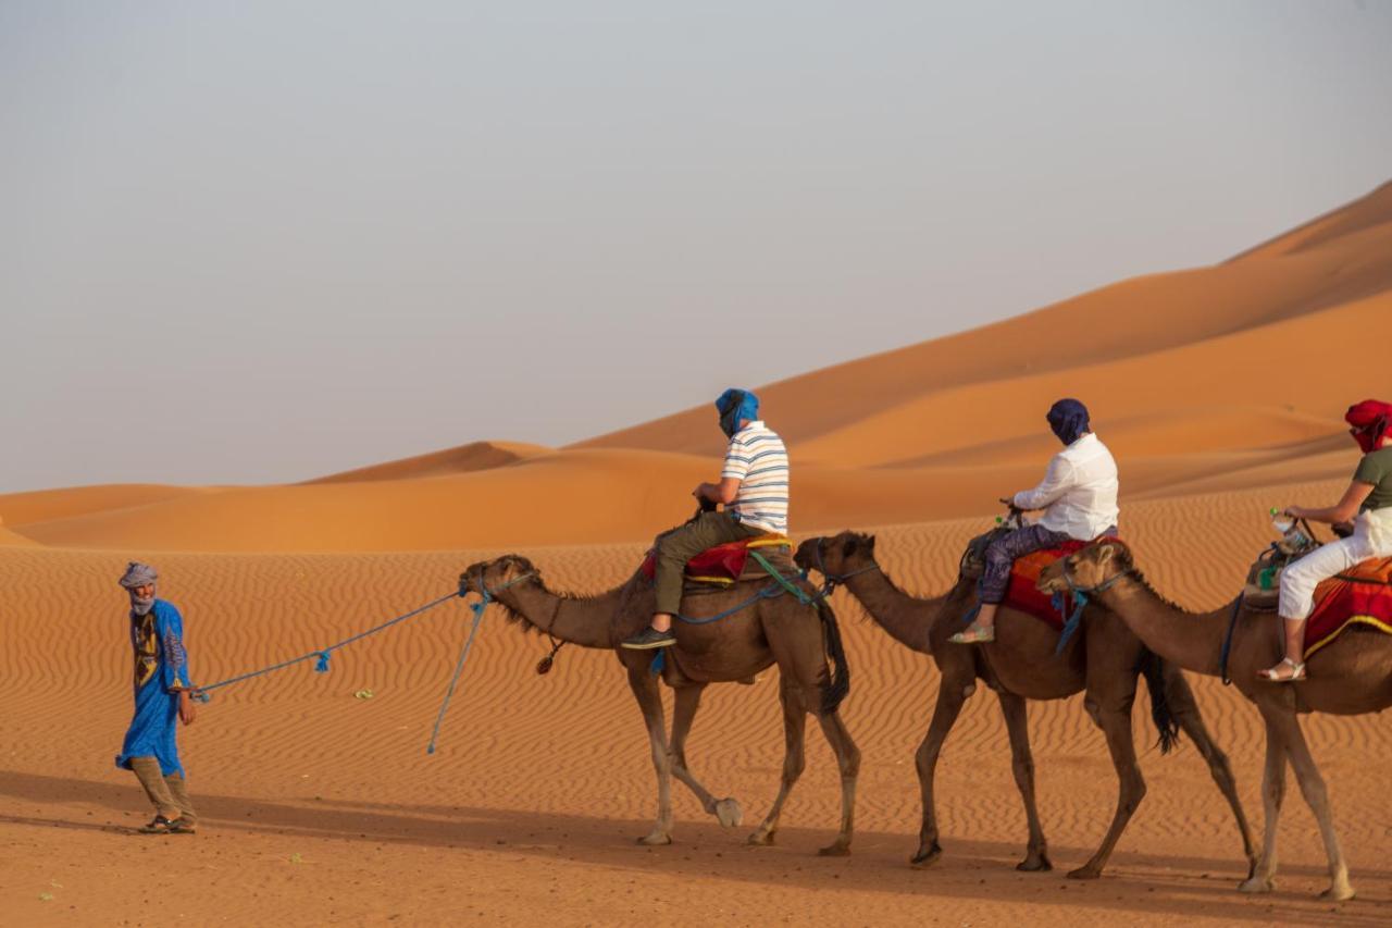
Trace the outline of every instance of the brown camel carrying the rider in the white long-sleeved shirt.
[[[1034, 807], [1034, 761], [1030, 755], [1026, 699], [1062, 699], [1086, 691], [1084, 705], [1093, 722], [1107, 737], [1107, 747], [1121, 783], [1112, 823], [1093, 857], [1069, 872], [1075, 879], [1094, 879], [1111, 857], [1116, 840], [1146, 796], [1146, 782], [1136, 762], [1130, 711], [1136, 698], [1136, 679], [1146, 676], [1151, 708], [1161, 732], [1161, 748], [1168, 750], [1183, 729], [1208, 762], [1214, 782], [1232, 807], [1242, 835], [1243, 853], [1254, 863], [1254, 847], [1247, 818], [1237, 800], [1237, 789], [1228, 758], [1212, 743], [1204, 727], [1193, 691], [1183, 676], [1150, 654], [1125, 624], [1105, 610], [1090, 606], [1079, 634], [1054, 654], [1059, 633], [1034, 616], [1002, 608], [997, 619], [995, 641], [986, 645], [959, 645], [948, 635], [963, 626], [963, 616], [976, 596], [976, 584], [958, 577], [956, 585], [934, 599], [919, 599], [901, 591], [874, 559], [874, 536], [842, 532], [835, 538], [813, 538], [796, 555], [805, 570], [818, 570], [828, 581], [842, 584], [860, 601], [870, 617], [899, 644], [933, 655], [938, 665], [938, 701], [933, 722], [916, 755], [919, 783], [923, 790], [923, 828], [919, 850], [910, 860], [917, 867], [935, 863], [938, 844], [937, 807], [933, 780], [938, 754], [967, 697], [981, 679], [997, 691], [1011, 738], [1015, 783], [1025, 800], [1029, 821], [1029, 844], [1016, 869], [1052, 869], [1044, 832]], [[1250, 869], [1249, 869], [1250, 872]]]

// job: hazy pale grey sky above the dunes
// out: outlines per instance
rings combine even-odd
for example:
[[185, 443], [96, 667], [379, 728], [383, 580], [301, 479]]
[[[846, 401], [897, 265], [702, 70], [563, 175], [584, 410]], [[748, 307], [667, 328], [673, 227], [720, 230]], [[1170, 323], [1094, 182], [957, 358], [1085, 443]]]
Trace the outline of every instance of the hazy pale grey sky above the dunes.
[[0, 492], [561, 444], [1392, 178], [1392, 3], [0, 0]]

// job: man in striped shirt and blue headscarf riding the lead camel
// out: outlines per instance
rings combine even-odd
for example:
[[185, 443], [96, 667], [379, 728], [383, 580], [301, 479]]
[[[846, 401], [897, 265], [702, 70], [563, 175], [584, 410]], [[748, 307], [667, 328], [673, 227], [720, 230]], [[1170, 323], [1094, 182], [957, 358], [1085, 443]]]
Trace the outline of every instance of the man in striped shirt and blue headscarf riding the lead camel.
[[667, 648], [677, 642], [672, 616], [682, 605], [686, 562], [707, 548], [788, 534], [788, 449], [759, 418], [759, 397], [731, 387], [715, 400], [720, 428], [729, 439], [718, 484], [700, 484], [692, 496], [724, 511], [700, 513], [657, 536], [657, 612], [653, 623], [626, 638], [625, 648]]

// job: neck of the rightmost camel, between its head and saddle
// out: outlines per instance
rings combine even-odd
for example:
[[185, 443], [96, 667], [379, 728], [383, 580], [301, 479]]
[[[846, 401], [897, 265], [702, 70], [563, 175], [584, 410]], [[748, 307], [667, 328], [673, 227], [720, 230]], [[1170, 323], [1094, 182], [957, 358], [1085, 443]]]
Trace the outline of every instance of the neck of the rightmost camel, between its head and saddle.
[[1212, 677], [1222, 672], [1222, 641], [1231, 605], [1215, 612], [1187, 612], [1166, 602], [1136, 575], [1097, 594], [1097, 599], [1165, 660]]

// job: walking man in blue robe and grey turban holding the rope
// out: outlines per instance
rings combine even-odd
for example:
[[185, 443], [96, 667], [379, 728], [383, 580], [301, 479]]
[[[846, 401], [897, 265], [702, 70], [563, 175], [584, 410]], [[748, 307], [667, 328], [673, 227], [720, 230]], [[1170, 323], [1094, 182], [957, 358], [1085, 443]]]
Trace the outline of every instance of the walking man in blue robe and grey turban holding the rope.
[[155, 598], [159, 573], [131, 562], [121, 587], [131, 596], [131, 649], [135, 652], [135, 718], [116, 765], [135, 773], [155, 805], [146, 835], [192, 835], [198, 815], [184, 784], [175, 732], [193, 725], [193, 684], [184, 649], [184, 619], [173, 603]]

